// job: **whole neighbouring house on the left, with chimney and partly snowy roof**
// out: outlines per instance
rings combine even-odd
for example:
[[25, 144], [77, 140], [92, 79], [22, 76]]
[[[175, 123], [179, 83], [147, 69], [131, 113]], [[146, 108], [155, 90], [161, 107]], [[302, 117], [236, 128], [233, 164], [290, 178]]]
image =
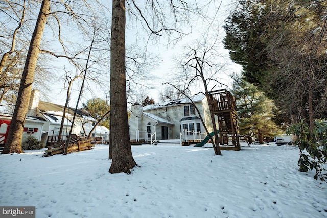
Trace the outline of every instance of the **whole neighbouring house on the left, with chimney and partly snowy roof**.
[[[26, 135], [32, 134], [38, 140], [41, 141], [41, 144], [43, 144], [43, 146], [47, 144], [49, 137], [53, 140], [56, 140], [55, 136], [57, 136], [58, 139], [64, 106], [40, 101], [40, 92], [36, 89], [33, 89], [31, 93], [31, 99], [28, 109], [29, 110], [27, 113], [26, 122], [24, 126], [24, 131], [26, 130], [26, 133], [25, 132], [23, 133], [23, 141], [24, 141], [25, 134]], [[69, 134], [69, 131], [72, 126], [74, 111], [75, 109], [71, 107], [68, 107], [66, 109], [62, 136], [66, 136]], [[6, 119], [3, 117], [4, 116], [0, 116], [0, 124], [2, 124], [0, 126], [0, 144], [2, 141], [1, 137], [3, 137], [3, 139], [5, 138], [4, 137], [5, 133], [3, 132], [9, 125], [8, 122], [10, 122], [12, 116], [9, 115]], [[72, 134], [78, 136], [88, 136], [90, 130], [95, 126], [95, 123], [96, 120], [93, 117], [91, 117], [87, 111], [78, 109], [76, 111], [76, 117], [72, 129]], [[40, 126], [41, 124], [42, 127]], [[83, 130], [83, 126], [85, 132]], [[93, 137], [106, 136], [105, 140], [108, 141], [109, 140], [108, 133], [109, 130], [106, 127], [97, 126], [96, 129], [92, 132], [92, 136]]]

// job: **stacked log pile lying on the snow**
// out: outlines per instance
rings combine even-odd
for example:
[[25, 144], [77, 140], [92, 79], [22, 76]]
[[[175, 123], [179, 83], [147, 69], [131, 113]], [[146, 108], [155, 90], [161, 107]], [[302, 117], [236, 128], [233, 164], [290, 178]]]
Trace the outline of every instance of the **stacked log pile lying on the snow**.
[[[74, 143], [70, 143], [67, 153], [71, 152], [78, 152], [78, 151], [85, 151], [92, 149], [91, 139], [88, 140], [78, 140]], [[58, 147], [52, 147], [48, 146], [48, 150], [45, 150], [45, 154], [43, 154], [43, 157], [49, 157], [55, 154], [63, 154], [64, 146], [60, 145]]]

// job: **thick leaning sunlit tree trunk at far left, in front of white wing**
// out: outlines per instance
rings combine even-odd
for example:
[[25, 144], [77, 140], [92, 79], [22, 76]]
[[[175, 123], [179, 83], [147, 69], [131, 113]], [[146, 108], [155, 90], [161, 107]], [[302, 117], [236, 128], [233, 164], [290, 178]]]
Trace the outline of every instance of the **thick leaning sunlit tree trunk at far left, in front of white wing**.
[[50, 13], [50, 0], [43, 0], [32, 35], [24, 70], [22, 72], [15, 110], [9, 127], [9, 134], [2, 154], [22, 153], [22, 133], [25, 117], [31, 98], [35, 66], [40, 52], [41, 39], [46, 23], [46, 16]]

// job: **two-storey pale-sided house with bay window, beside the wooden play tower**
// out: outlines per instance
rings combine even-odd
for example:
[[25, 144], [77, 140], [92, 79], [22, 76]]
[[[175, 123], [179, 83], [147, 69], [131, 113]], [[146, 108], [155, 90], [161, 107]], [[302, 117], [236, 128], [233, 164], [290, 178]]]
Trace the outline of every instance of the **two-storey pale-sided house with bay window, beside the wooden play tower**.
[[[193, 96], [192, 101], [198, 108], [208, 131], [212, 132], [213, 127], [205, 95]], [[181, 138], [194, 141], [206, 136], [200, 116], [187, 98], [144, 107], [133, 105], [129, 127], [132, 142]]]

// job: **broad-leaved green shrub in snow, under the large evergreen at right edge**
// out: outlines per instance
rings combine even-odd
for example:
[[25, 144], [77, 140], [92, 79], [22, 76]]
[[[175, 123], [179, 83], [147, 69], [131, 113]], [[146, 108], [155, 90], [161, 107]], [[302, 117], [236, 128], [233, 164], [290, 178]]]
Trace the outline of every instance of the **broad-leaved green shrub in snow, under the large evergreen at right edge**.
[[300, 171], [307, 172], [309, 168], [315, 169], [314, 178], [327, 181], [327, 121], [317, 120], [311, 131], [306, 122], [293, 124], [289, 130], [297, 136], [297, 144], [300, 149], [298, 166]]

